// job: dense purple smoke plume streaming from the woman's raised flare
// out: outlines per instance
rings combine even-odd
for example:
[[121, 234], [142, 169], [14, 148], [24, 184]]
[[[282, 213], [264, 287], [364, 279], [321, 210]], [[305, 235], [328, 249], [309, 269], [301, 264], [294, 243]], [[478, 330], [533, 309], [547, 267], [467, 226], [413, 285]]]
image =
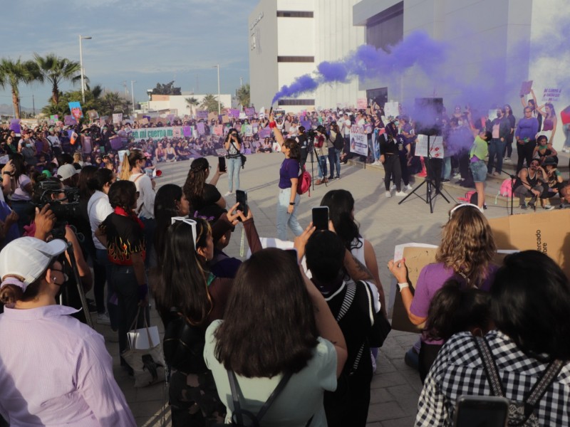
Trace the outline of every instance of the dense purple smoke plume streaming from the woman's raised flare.
[[283, 86], [271, 103], [311, 92], [326, 83], [346, 83], [355, 77], [392, 78], [414, 65], [425, 73], [432, 73], [445, 58], [445, 43], [434, 41], [425, 31], [415, 31], [397, 45], [390, 46], [388, 51], [363, 45], [343, 60], [324, 61], [317, 65], [314, 77], [306, 74], [296, 78], [291, 85]]

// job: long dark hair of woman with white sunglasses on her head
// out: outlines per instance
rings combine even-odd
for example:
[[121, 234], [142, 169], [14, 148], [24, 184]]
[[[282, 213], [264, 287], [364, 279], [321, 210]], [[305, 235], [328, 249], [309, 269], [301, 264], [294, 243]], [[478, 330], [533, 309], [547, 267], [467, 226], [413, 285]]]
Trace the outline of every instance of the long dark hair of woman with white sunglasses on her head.
[[[204, 222], [197, 221], [197, 229], [207, 228]], [[166, 325], [170, 308], [177, 307], [191, 325], [202, 325], [213, 304], [189, 224], [177, 221], [167, 228], [162, 262], [160, 275], [152, 287], [162, 322]]]

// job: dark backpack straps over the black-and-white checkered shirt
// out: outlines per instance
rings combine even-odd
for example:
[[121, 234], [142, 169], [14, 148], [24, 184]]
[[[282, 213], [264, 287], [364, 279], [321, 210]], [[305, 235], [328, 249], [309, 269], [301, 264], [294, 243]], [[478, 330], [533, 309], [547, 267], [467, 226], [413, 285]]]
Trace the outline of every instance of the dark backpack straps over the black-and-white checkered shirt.
[[[504, 397], [504, 389], [497, 369], [497, 364], [493, 359], [493, 354], [489, 347], [487, 339], [484, 337], [473, 337], [477, 344], [477, 350], [483, 361], [485, 374], [493, 396]], [[539, 427], [540, 423], [534, 409], [539, 406], [540, 400], [548, 390], [549, 386], [554, 382], [556, 376], [560, 373], [564, 362], [556, 359], [549, 363], [548, 367], [544, 370], [543, 374], [534, 383], [532, 389], [524, 396], [524, 401], [509, 401], [509, 419], [507, 426], [509, 427]]]

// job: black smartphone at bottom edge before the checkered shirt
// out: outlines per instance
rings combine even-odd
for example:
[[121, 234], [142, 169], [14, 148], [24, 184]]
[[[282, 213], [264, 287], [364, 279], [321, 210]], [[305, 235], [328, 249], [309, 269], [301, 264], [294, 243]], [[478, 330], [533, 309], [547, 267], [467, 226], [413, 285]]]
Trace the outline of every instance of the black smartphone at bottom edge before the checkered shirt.
[[498, 396], [460, 396], [455, 405], [455, 427], [507, 426], [509, 401]]

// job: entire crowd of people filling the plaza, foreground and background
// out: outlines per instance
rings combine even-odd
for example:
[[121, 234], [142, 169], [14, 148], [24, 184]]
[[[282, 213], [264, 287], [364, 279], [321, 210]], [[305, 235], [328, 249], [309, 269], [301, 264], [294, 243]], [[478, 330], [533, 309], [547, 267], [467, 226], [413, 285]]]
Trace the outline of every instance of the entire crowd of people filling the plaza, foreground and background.
[[[509, 119], [507, 107], [499, 107], [492, 120], [461, 107], [444, 116], [447, 157], [430, 164], [432, 176], [445, 181], [457, 166], [465, 185], [474, 183], [480, 191], [477, 184], [487, 174], [501, 171], [509, 139], [516, 139], [526, 156], [534, 137], [532, 155], [519, 157], [515, 194], [524, 204], [529, 196], [524, 190], [534, 200], [543, 199], [544, 191], [563, 193], [549, 136], [538, 135], [531, 120], [536, 117]], [[524, 108], [532, 116], [533, 110]], [[541, 115], [542, 108], [536, 108]], [[544, 107], [541, 132], [545, 125], [556, 131], [553, 113], [553, 107]], [[403, 196], [410, 174], [422, 167], [414, 155], [415, 123], [404, 113], [385, 117], [376, 104], [367, 111], [306, 112], [282, 120], [269, 114], [251, 121], [257, 133], [269, 128], [271, 150], [284, 154], [276, 237], [287, 241], [291, 229], [295, 251], [289, 253], [262, 247], [252, 209], [227, 206], [216, 187], [224, 171], [217, 166], [210, 178], [211, 165], [203, 157], [209, 153], [189, 155], [193, 160], [183, 185], [155, 191], [156, 181], [147, 172], [157, 162], [178, 159], [189, 141], [129, 142], [130, 125], [121, 125], [116, 134], [110, 125], [71, 132], [41, 125], [21, 130], [19, 139], [12, 130], [3, 132], [1, 149], [8, 158], [1, 170], [0, 301], [5, 306], [0, 331], [13, 337], [0, 344], [0, 378], [6, 384], [0, 415], [7, 421], [135, 425], [102, 337], [84, 325], [90, 314], [81, 293], [93, 288], [95, 321], [116, 332], [120, 364], [130, 374], [133, 367], [123, 358], [128, 331], [150, 320], [154, 299], [165, 328], [173, 426], [239, 423], [248, 416], [263, 417], [264, 425], [366, 425], [378, 347], [389, 330], [380, 327], [388, 322], [378, 260], [354, 219], [350, 191], [323, 196], [328, 229], [301, 226], [301, 173], [314, 152], [316, 184], [340, 178], [341, 163], [354, 155], [350, 127], [356, 124], [370, 135], [371, 158], [364, 159], [384, 164], [385, 195], [391, 196], [393, 184], [395, 195]], [[226, 128], [212, 147], [225, 157], [227, 196], [239, 189], [249, 130], [235, 120]], [[120, 148], [128, 151], [114, 152], [113, 139], [122, 138], [123, 131], [127, 139]], [[540, 176], [548, 177], [548, 189]], [[239, 223], [252, 251], [244, 262], [224, 253]], [[418, 426], [450, 425], [461, 394], [488, 394], [491, 385], [482, 374], [486, 367], [474, 337], [484, 337], [497, 358], [509, 399], [527, 399], [532, 378], [556, 367], [554, 389], [527, 415], [546, 425], [570, 422], [564, 322], [569, 281], [544, 254], [509, 255], [499, 267], [492, 263], [495, 252], [482, 203], [462, 204], [450, 211], [437, 263], [423, 268], [415, 292], [405, 260], [388, 263], [410, 321], [425, 324], [418, 354], [425, 384]], [[60, 294], [64, 305], [56, 304]], [[32, 369], [24, 369], [28, 365]], [[467, 368], [477, 371], [476, 385]], [[42, 384], [51, 380], [30, 386], [30, 379], [38, 378]]]

